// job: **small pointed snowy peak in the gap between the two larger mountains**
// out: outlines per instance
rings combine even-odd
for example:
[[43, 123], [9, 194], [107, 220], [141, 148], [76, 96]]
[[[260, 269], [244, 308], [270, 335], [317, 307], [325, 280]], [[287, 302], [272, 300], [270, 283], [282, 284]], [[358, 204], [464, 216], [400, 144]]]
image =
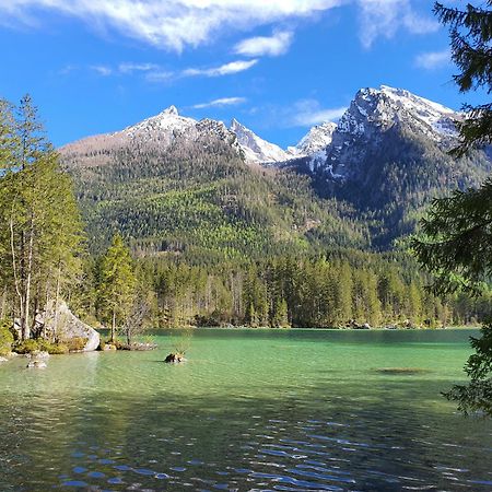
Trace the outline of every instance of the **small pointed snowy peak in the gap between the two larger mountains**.
[[280, 147], [261, 139], [235, 118], [231, 122], [231, 131], [236, 134], [237, 142], [248, 162], [274, 163], [291, 159]]

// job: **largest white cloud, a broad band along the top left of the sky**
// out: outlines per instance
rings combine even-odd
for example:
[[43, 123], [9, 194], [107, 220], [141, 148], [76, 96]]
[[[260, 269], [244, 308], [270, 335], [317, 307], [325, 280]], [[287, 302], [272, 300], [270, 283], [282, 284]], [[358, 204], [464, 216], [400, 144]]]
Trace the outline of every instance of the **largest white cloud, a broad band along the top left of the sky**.
[[33, 24], [42, 12], [80, 19], [148, 44], [181, 51], [221, 31], [248, 31], [329, 10], [347, 0], [0, 0], [2, 23]]

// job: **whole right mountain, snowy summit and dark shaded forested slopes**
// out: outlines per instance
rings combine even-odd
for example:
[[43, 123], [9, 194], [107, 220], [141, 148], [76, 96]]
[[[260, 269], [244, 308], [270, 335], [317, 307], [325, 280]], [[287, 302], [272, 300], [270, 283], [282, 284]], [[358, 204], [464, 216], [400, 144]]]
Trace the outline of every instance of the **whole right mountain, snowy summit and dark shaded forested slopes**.
[[408, 91], [358, 92], [331, 142], [286, 166], [311, 176], [323, 197], [350, 203], [371, 225], [374, 246], [414, 231], [424, 208], [454, 189], [481, 184], [492, 169], [487, 152], [461, 159], [455, 124], [464, 115]]

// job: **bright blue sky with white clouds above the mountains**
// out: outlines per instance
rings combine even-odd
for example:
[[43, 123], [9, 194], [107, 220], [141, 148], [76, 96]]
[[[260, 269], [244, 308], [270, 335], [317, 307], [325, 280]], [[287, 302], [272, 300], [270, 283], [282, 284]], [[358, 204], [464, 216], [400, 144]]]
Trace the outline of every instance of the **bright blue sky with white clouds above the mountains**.
[[[455, 4], [460, 3], [458, 1]], [[28, 92], [56, 145], [169, 105], [282, 147], [360, 87], [459, 109], [430, 0], [0, 0], [0, 96]], [[448, 2], [453, 4], [453, 2]]]

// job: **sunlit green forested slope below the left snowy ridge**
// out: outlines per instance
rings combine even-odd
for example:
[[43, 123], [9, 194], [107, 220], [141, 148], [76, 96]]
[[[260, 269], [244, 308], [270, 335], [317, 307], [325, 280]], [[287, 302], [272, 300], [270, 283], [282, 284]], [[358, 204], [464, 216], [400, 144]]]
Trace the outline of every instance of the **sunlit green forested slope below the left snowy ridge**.
[[223, 142], [65, 154], [98, 253], [114, 231], [141, 255], [198, 262], [261, 258], [326, 246], [367, 245], [365, 225], [342, 220], [307, 178], [246, 165]]

